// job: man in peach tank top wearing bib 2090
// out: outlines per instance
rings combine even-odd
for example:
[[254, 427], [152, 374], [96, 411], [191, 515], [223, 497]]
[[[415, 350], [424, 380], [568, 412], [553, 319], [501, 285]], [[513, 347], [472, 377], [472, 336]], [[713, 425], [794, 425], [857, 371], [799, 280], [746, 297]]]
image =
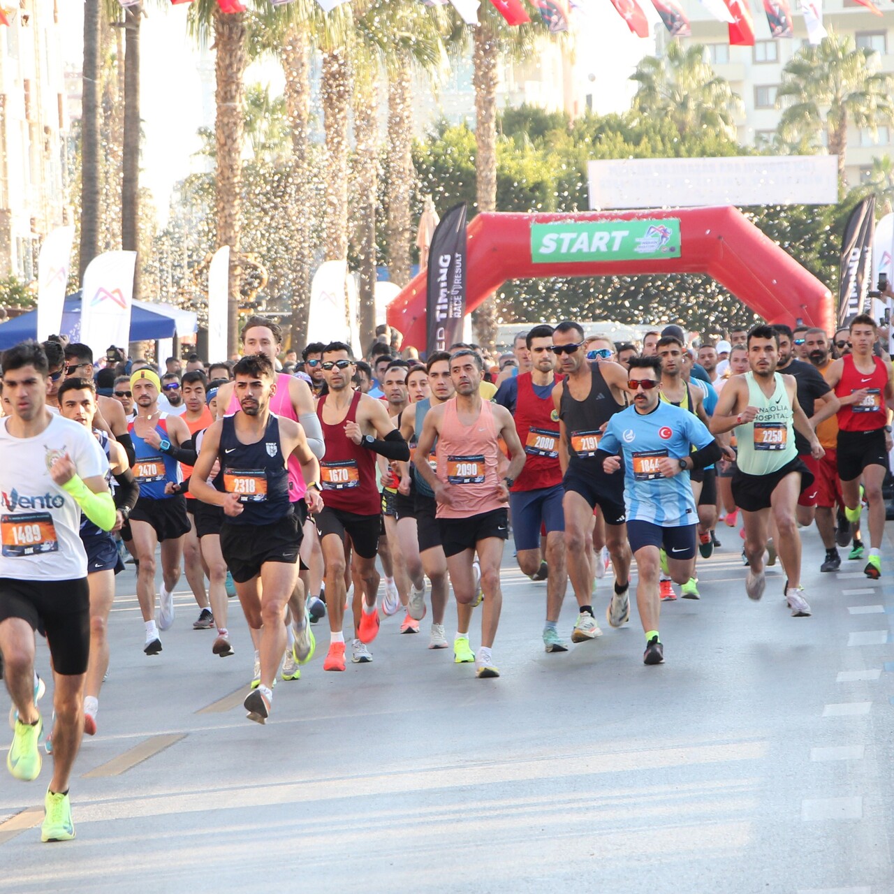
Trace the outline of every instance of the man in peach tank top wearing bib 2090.
[[[428, 410], [417, 443], [417, 452], [423, 457], [434, 448], [437, 471], [427, 462], [420, 462], [417, 469], [434, 492], [443, 551], [459, 603], [470, 604], [476, 599], [473, 562], [477, 552], [485, 599], [475, 672], [477, 677], [499, 677], [492, 648], [502, 609], [503, 541], [509, 536], [505, 504], [509, 488], [524, 466], [525, 451], [509, 411], [481, 398], [484, 363], [480, 356], [474, 350], [455, 351], [450, 372], [456, 394]], [[504, 476], [498, 478], [501, 437], [510, 462]]]

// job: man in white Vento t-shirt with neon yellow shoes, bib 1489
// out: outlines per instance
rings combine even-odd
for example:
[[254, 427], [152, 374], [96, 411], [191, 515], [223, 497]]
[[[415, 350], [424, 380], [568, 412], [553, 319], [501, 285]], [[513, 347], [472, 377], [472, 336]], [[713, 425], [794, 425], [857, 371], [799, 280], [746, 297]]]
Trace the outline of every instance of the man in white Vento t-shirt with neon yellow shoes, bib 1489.
[[[35, 693], [35, 631], [46, 635], [53, 661], [53, 777], [46, 790], [42, 841], [74, 838], [69, 779], [83, 735], [84, 676], [90, 645], [87, 553], [80, 513], [114, 527], [108, 460], [83, 426], [46, 409], [49, 364], [43, 349], [23, 342], [4, 351], [0, 421], [0, 652], [4, 683], [18, 713], [9, 772], [36, 780], [43, 721]], [[6, 403], [8, 401], [8, 403]]]

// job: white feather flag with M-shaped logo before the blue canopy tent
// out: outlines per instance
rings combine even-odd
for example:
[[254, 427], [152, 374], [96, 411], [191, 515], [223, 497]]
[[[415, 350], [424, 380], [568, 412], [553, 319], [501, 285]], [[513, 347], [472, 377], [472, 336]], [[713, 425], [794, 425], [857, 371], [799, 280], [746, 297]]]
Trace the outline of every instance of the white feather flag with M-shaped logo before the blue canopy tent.
[[94, 357], [110, 345], [127, 350], [131, 341], [131, 302], [135, 251], [106, 251], [84, 271], [80, 300], [80, 341]]

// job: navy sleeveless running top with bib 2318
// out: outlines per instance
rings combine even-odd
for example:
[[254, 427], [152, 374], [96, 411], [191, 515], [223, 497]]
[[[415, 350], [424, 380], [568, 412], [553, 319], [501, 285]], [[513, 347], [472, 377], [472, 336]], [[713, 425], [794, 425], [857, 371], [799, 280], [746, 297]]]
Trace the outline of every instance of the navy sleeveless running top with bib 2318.
[[236, 436], [235, 416], [223, 417], [221, 429], [221, 474], [218, 489], [238, 493], [245, 510], [227, 516], [230, 525], [270, 525], [291, 514], [289, 471], [279, 441], [279, 417], [273, 413], [260, 441], [241, 443]]

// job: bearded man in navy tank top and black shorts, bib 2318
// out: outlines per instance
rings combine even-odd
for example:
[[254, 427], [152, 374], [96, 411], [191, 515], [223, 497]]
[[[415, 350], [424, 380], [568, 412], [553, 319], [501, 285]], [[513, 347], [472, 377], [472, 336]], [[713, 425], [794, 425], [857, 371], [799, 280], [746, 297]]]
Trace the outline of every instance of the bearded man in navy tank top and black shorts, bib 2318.
[[[299, 461], [309, 483], [306, 500], [311, 510], [321, 506], [314, 484], [319, 464], [304, 429], [270, 412], [277, 375], [269, 358], [243, 357], [233, 367], [233, 375], [240, 409], [207, 429], [190, 491], [199, 500], [223, 507], [223, 559], [232, 571], [260, 654], [259, 685], [251, 689], [244, 704], [249, 720], [265, 723], [288, 640], [285, 610], [295, 592], [301, 545], [303, 519], [289, 497], [288, 460], [294, 456]], [[223, 492], [207, 482], [215, 460], [220, 463]], [[303, 663], [314, 654], [314, 638], [306, 615], [296, 608], [293, 627], [299, 620], [305, 623], [294, 631], [293, 651], [295, 660]]]

